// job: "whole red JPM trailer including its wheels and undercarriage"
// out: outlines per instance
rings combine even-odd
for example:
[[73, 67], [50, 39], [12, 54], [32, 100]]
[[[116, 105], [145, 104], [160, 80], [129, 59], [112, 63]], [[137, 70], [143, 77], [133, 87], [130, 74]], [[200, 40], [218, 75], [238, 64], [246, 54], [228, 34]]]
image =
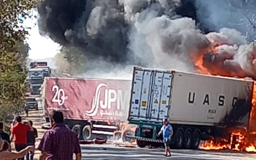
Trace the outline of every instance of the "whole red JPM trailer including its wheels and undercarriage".
[[49, 122], [52, 110], [62, 111], [66, 126], [80, 139], [113, 137], [127, 122], [130, 85], [127, 80], [46, 77], [43, 115]]

